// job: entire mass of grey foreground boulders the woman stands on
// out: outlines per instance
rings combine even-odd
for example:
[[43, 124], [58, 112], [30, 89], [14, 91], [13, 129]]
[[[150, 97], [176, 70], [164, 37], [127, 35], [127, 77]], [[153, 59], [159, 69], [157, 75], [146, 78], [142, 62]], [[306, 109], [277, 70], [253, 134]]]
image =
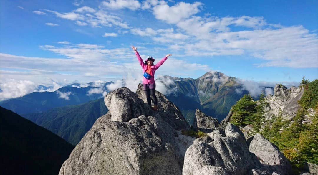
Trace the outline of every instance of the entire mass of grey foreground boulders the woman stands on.
[[246, 141], [235, 125], [228, 122], [223, 127], [199, 110], [194, 128], [206, 136], [183, 135], [190, 127], [180, 110], [163, 94], [156, 96], [159, 109], [153, 111], [141, 85], [136, 93], [125, 87], [108, 93], [104, 101], [109, 111], [76, 145], [59, 175], [284, 175], [290, 171], [287, 159], [268, 140], [256, 135]]

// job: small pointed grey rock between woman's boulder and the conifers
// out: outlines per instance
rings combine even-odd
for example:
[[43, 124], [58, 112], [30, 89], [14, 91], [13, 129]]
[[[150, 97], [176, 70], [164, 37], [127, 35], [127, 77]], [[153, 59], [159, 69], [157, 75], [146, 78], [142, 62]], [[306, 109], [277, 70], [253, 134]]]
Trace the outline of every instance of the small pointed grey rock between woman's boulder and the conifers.
[[196, 117], [194, 118], [193, 126], [194, 130], [200, 130], [203, 132], [212, 132], [218, 128], [218, 120], [211, 116], [205, 115], [199, 109], [196, 110]]

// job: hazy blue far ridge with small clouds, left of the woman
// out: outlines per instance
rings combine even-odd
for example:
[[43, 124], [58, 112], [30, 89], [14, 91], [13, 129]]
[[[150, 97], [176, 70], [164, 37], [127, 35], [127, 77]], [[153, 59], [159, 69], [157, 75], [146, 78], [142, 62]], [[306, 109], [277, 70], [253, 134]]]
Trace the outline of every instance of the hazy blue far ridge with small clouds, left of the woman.
[[93, 87], [93, 83], [88, 83], [87, 87], [71, 84], [54, 92], [33, 92], [22, 97], [1, 101], [0, 105], [22, 116], [41, 113], [56, 107], [82, 104], [99, 99], [103, 97], [103, 91], [108, 92], [107, 85], [112, 83], [107, 82], [100, 87]]

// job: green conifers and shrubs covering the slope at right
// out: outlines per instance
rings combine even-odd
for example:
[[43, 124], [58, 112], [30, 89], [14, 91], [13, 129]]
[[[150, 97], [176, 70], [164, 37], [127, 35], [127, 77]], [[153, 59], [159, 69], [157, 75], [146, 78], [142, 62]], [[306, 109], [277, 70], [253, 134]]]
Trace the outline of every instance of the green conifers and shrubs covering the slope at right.
[[[231, 111], [233, 115], [230, 122], [244, 127], [251, 124], [254, 133], [261, 133], [269, 141], [279, 147], [290, 160], [295, 173], [302, 170], [305, 162], [318, 164], [318, 80], [301, 83], [304, 94], [298, 101], [300, 108], [292, 121], [283, 121], [281, 112], [271, 120], [264, 120], [263, 107], [265, 101], [253, 101], [249, 95], [242, 97]], [[308, 108], [316, 111], [312, 123], [304, 124], [304, 116]], [[260, 126], [263, 124], [263, 129]]]

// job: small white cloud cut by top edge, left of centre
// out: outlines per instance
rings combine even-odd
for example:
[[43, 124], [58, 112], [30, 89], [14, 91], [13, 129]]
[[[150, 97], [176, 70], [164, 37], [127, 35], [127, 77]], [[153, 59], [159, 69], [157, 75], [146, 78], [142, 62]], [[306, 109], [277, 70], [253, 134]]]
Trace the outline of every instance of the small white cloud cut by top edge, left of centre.
[[114, 10], [124, 8], [137, 10], [141, 7], [141, 4], [136, 0], [107, 0], [101, 3], [101, 7], [107, 7]]

